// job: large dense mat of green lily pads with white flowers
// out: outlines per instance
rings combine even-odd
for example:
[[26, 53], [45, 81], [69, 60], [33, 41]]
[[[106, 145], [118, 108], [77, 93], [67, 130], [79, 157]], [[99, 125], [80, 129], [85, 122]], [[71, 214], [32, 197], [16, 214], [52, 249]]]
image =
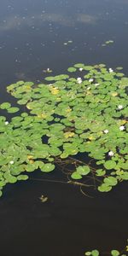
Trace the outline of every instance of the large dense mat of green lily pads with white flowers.
[[101, 192], [128, 180], [128, 78], [120, 69], [79, 63], [41, 84], [7, 87], [19, 106], [0, 105], [0, 191], [26, 180], [26, 172], [51, 172], [56, 160], [79, 153], [93, 166], [79, 162], [71, 178], [98, 177]]

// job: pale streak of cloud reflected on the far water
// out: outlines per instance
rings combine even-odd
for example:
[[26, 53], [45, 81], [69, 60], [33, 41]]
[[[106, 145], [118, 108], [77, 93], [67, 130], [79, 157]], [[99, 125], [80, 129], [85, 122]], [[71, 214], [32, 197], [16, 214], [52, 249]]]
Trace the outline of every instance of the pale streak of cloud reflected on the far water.
[[[42, 14], [42, 15], [32, 15], [32, 16], [23, 16], [13, 15], [7, 17], [6, 20], [1, 21], [0, 23], [0, 32], [7, 32], [10, 30], [20, 30], [24, 27], [38, 28], [44, 25], [44, 22], [53, 22], [62, 26], [76, 26], [76, 23], [87, 23], [95, 24], [97, 18], [92, 15], [79, 14], [74, 17], [69, 17], [67, 15], [60, 14]], [[52, 26], [52, 24], [50, 24]]]

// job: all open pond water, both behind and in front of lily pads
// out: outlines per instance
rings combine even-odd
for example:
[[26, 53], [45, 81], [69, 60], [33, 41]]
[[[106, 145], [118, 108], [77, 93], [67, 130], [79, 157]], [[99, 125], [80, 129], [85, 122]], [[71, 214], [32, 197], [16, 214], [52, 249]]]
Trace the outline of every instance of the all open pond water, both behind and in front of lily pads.
[[[0, 102], [14, 101], [6, 86], [41, 80], [45, 69], [64, 72], [77, 62], [127, 71], [127, 0], [4, 0], [0, 9]], [[113, 40], [113, 44], [105, 44]], [[104, 45], [105, 44], [105, 45]], [[97, 247], [121, 249], [127, 239], [128, 189], [84, 196], [61, 170], [36, 172], [7, 186], [0, 200], [1, 256], [82, 256]], [[41, 195], [48, 196], [42, 203]]]

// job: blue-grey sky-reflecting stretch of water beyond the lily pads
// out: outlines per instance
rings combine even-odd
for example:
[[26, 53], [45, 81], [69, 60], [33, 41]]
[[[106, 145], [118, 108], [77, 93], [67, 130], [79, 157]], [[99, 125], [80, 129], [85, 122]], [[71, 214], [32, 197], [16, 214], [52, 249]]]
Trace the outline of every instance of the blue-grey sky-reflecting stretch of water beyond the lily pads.
[[[3, 87], [17, 79], [15, 73], [41, 79], [47, 67], [60, 73], [78, 61], [119, 65], [127, 72], [127, 11], [126, 1], [119, 0], [4, 1], [0, 9]], [[110, 39], [114, 44], [102, 48]], [[65, 46], [68, 40], [73, 44]]]

